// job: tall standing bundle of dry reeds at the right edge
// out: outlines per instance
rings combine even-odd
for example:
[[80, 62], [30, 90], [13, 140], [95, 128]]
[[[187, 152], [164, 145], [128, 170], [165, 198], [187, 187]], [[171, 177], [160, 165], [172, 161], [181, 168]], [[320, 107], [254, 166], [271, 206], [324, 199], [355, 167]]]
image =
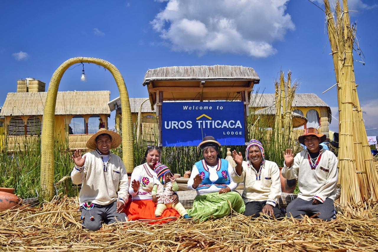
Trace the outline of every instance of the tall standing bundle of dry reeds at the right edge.
[[335, 14], [324, 0], [328, 38], [332, 49], [338, 86], [339, 105], [339, 183], [342, 186], [341, 205], [377, 200], [378, 174], [367, 143], [362, 111], [359, 105], [354, 69], [353, 45], [356, 26], [350, 25], [347, 0], [344, 10], [336, 2]]

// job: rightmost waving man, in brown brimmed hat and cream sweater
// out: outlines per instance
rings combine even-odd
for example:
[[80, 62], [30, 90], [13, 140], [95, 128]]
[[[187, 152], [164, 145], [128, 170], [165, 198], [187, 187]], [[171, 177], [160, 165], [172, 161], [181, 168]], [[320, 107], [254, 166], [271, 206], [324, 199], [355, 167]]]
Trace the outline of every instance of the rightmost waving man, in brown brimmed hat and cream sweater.
[[287, 216], [301, 218], [303, 215], [317, 215], [325, 221], [335, 218], [336, 183], [338, 180], [338, 160], [331, 151], [324, 150], [320, 143], [325, 135], [316, 128], [306, 128], [298, 141], [306, 149], [295, 157], [292, 149], [284, 153], [285, 163], [282, 176], [287, 179], [298, 179], [301, 191], [286, 209]]

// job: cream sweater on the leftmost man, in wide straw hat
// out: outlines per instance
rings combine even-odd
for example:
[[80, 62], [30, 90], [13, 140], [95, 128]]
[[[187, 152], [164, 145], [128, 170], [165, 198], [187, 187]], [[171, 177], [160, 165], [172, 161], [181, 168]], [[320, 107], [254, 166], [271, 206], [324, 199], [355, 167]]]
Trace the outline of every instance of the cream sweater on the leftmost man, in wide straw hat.
[[129, 183], [122, 159], [110, 154], [108, 171], [104, 172], [101, 156], [96, 150], [85, 153], [84, 156], [84, 166], [75, 165], [71, 172], [72, 182], [82, 184], [79, 203], [91, 202], [104, 206], [122, 201], [125, 204], [129, 198]]

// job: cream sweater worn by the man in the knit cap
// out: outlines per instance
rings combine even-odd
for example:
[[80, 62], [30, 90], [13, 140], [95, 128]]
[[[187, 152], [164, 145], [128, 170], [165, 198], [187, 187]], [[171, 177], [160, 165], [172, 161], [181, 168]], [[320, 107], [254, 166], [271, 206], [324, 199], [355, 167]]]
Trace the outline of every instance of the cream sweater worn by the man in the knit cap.
[[231, 178], [234, 179], [234, 182], [244, 182], [242, 194], [244, 203], [266, 200], [266, 204], [275, 207], [281, 196], [280, 170], [275, 162], [268, 160], [265, 160], [261, 169], [259, 180], [256, 179], [256, 173], [259, 171], [253, 168], [250, 161], [243, 161], [242, 175], [237, 175], [234, 168]]

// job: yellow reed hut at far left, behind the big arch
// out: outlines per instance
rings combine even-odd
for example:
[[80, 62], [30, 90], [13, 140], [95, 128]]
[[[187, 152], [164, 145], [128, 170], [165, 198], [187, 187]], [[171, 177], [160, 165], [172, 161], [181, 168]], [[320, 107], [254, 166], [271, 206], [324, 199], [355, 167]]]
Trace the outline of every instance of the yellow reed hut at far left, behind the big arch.
[[[8, 151], [13, 152], [15, 146], [40, 135], [46, 96], [47, 92], [8, 93], [0, 113], [4, 117]], [[108, 127], [109, 98], [110, 91], [58, 92], [54, 120], [57, 139], [68, 138], [70, 149], [85, 149], [91, 135]]]

